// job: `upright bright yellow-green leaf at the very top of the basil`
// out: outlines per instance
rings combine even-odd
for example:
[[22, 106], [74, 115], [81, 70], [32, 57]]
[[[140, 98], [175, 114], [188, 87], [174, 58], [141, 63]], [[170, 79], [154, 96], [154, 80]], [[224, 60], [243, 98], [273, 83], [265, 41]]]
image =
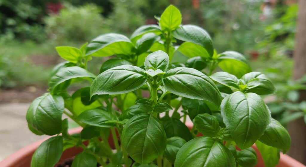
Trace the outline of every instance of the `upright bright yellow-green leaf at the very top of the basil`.
[[171, 32], [182, 22], [181, 12], [173, 5], [169, 5], [160, 16], [159, 25], [163, 31]]

